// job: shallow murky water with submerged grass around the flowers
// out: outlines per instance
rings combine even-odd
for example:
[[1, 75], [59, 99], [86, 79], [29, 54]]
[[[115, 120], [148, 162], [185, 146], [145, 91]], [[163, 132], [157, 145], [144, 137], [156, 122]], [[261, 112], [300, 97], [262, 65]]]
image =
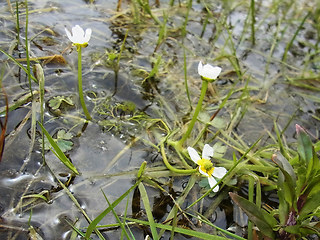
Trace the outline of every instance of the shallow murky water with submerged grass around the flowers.
[[[148, 162], [148, 167], [162, 166], [157, 150], [143, 141], [147, 139], [157, 144], [154, 138], [156, 134], [152, 133], [153, 136], [150, 133], [144, 120], [162, 119], [174, 129], [181, 127], [181, 119], [188, 116], [190, 107], [184, 86], [184, 53], [193, 106], [196, 105], [201, 86], [197, 75], [199, 60], [223, 68], [214, 89], [206, 96], [204, 115], [211, 116], [228, 91], [236, 89], [215, 119], [212, 131], [227, 129], [232, 125], [232, 132], [235, 134], [233, 136], [241, 136], [247, 146], [260, 136], [263, 136], [264, 144], [272, 143], [269, 133], [273, 131], [274, 122], [281, 129], [288, 124], [285, 136], [289, 145], [295, 142], [295, 123], [303, 125], [318, 137], [319, 63], [308, 59], [316, 52], [318, 41], [315, 37], [316, 23], [311, 16], [288, 51], [287, 63], [281, 63], [287, 44], [306, 14], [306, 11], [300, 10], [298, 4], [310, 9], [312, 3], [294, 3], [288, 8], [283, 19], [279, 18], [285, 15], [286, 3], [279, 6], [282, 15], [265, 12], [264, 9], [270, 7], [271, 3], [263, 1], [265, 5], [257, 4], [255, 45], [251, 44], [250, 27], [244, 28], [248, 6], [238, 1], [206, 3], [212, 16], [205, 29], [203, 26], [207, 14], [203, 3], [194, 1], [185, 36], [179, 29], [185, 21], [185, 3], [179, 6], [177, 2], [173, 7], [169, 7], [167, 1], [161, 1], [160, 7], [156, 7], [153, 2], [150, 4], [153, 14], [161, 21], [164, 12], [168, 15], [167, 38], [159, 46], [159, 26], [147, 14], [140, 15], [140, 24], [134, 24], [129, 2], [124, 1], [122, 11], [117, 12], [117, 1], [111, 0], [95, 1], [93, 4], [80, 0], [28, 1], [28, 38], [33, 38], [30, 42], [31, 57], [62, 54], [67, 62], [65, 65], [54, 62], [44, 65], [45, 127], [52, 135], [61, 129], [72, 133], [73, 146], [67, 154], [81, 174], [72, 177], [70, 171], [49, 151], [46, 153], [47, 166], [42, 165], [38, 141], [40, 132], [37, 132], [33, 144], [30, 139], [31, 109], [32, 104], [36, 103], [26, 101], [20, 108], [11, 111], [5, 151], [0, 163], [0, 211], [3, 230], [0, 233], [1, 239], [26, 239], [29, 234], [30, 215], [30, 225], [44, 239], [70, 239], [72, 228], [66, 220], [80, 228], [88, 226], [57, 179], [67, 185], [81, 208], [94, 219], [108, 206], [102, 191], [109, 201], [113, 202], [134, 184], [136, 170], [143, 161]], [[14, 11], [14, 3], [12, 7]], [[22, 3], [19, 7], [22, 44], [15, 43], [15, 15], [10, 13], [6, 3], [1, 3], [0, 20], [4, 27], [0, 32], [0, 47], [15, 58], [25, 58], [25, 8]], [[228, 29], [221, 29], [224, 20], [229, 26]], [[84, 90], [88, 108], [94, 112], [95, 119], [89, 124], [84, 123], [82, 109], [79, 108], [77, 100], [77, 53], [74, 48], [70, 48], [64, 30], [65, 27], [71, 29], [75, 24], [93, 30], [89, 46], [83, 49], [82, 54]], [[44, 30], [46, 28], [49, 30]], [[127, 30], [128, 37], [117, 72], [112, 65], [114, 61], [107, 59], [106, 52], [120, 50]], [[314, 35], [310, 35], [310, 32]], [[152, 71], [157, 59], [160, 59], [159, 56], [161, 62], [157, 74], [147, 79], [148, 72]], [[7, 57], [2, 55], [1, 59], [6, 60]], [[23, 64], [25, 66], [25, 62]], [[237, 64], [241, 67], [240, 75], [235, 71], [234, 66]], [[12, 104], [29, 92], [27, 76], [12, 62], [3, 61], [2, 65], [5, 67], [2, 82], [9, 104]], [[309, 80], [311, 78], [312, 81]], [[294, 81], [289, 81], [290, 79]], [[301, 82], [312, 86], [313, 90], [290, 84]], [[36, 89], [36, 84], [33, 84], [33, 87]], [[245, 91], [248, 91], [249, 95], [244, 95]], [[71, 97], [75, 106], [66, 106], [60, 112], [54, 111], [50, 108], [49, 101], [56, 96]], [[135, 110], [120, 109], [119, 104], [125, 102], [134, 102]], [[103, 103], [105, 105], [101, 107], [100, 104]], [[4, 100], [1, 99], [1, 107], [3, 106]], [[97, 113], [98, 106], [105, 114]], [[109, 111], [110, 108], [113, 110]], [[104, 120], [112, 119], [112, 114], [113, 122], [109, 121], [106, 125]], [[137, 122], [128, 120], [138, 114], [142, 117], [139, 115], [141, 119]], [[82, 117], [82, 120], [79, 117]], [[200, 129], [201, 127], [197, 126], [192, 137], [195, 138], [195, 132]], [[161, 134], [159, 131], [158, 135]], [[218, 141], [219, 139], [215, 139], [209, 144], [213, 145]], [[233, 149], [229, 146], [225, 157], [232, 156], [232, 152]], [[186, 176], [163, 176], [158, 177], [157, 181], [170, 190], [173, 196], [178, 196], [187, 179]], [[200, 191], [201, 188], [196, 185], [192, 196], [186, 200], [183, 207], [195, 201]], [[214, 213], [208, 213], [209, 219], [219, 227], [234, 227], [238, 234], [242, 234], [241, 227], [245, 224], [241, 222], [243, 220], [235, 220], [239, 215], [232, 215], [232, 212], [238, 210], [233, 210], [227, 197], [227, 191], [231, 190], [226, 187], [224, 191], [224, 202]], [[40, 193], [48, 198], [48, 203], [41, 199], [31, 201], [32, 198], [21, 201], [23, 195]], [[164, 220], [165, 214], [172, 207], [172, 201], [155, 188], [148, 188], [148, 193], [151, 205], [155, 206], [154, 214], [159, 209], [164, 210], [158, 212], [157, 220]], [[130, 204], [135, 202], [132, 195], [133, 193], [129, 195]], [[159, 199], [165, 203], [157, 205]], [[211, 202], [212, 198], [206, 198], [203, 202], [204, 212], [210, 208]], [[116, 210], [121, 215], [125, 208], [126, 200], [122, 201]], [[132, 215], [134, 211], [134, 207], [129, 207], [128, 215]], [[239, 214], [245, 218], [243, 213]], [[230, 217], [231, 215], [234, 217]], [[116, 223], [116, 220], [111, 214], [100, 222], [112, 223]], [[143, 239], [148, 233], [146, 229], [139, 227], [132, 227], [131, 230], [136, 239]], [[211, 233], [212, 229], [201, 228], [200, 231]], [[106, 239], [119, 239], [120, 232], [119, 229], [110, 229], [103, 235]], [[169, 236], [170, 234], [165, 235], [165, 239]], [[175, 239], [185, 237], [177, 235]]]

